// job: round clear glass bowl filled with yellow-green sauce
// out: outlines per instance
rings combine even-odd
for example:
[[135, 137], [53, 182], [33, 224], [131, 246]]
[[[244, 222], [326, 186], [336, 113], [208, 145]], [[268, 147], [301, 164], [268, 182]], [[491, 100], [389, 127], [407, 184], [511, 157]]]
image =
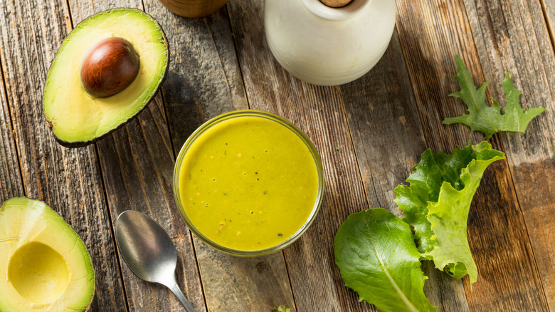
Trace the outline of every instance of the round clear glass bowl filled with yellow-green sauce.
[[[252, 129], [248, 128], [251, 127], [251, 125]], [[233, 128], [228, 128], [230, 126], [234, 126], [236, 129], [234, 130]], [[240, 132], [237, 132], [239, 130]], [[250, 132], [247, 130], [253, 131]], [[284, 130], [285, 132], [283, 132]], [[249, 133], [254, 134], [249, 137]], [[228, 145], [228, 137], [240, 138], [230, 140], [230, 145]], [[289, 137], [289, 140], [292, 141], [285, 144], [285, 137]], [[249, 140], [253, 141], [251, 142]], [[280, 142], [280, 140], [284, 141]], [[223, 143], [224, 141], [225, 145]], [[270, 144], [275, 142], [277, 145], [260, 146], [275, 146], [277, 148], [272, 148], [271, 150], [270, 148], [266, 148], [264, 151], [257, 150], [257, 142], [263, 142], [260, 144], [268, 144], [266, 141], [271, 141]], [[241, 144], [246, 146], [245, 157], [243, 157], [243, 159], [240, 158], [242, 157], [241, 152], [233, 152], [233, 148], [236, 145], [238, 146]], [[279, 146], [279, 144], [282, 144], [282, 146]], [[213, 147], [219, 148], [220, 146], [223, 147], [223, 150], [213, 150]], [[260, 155], [262, 156], [255, 154], [256, 152], [260, 152]], [[214, 155], [216, 155], [216, 157], [214, 157]], [[283, 155], [285, 155], [285, 157]], [[250, 156], [252, 156], [252, 160]], [[277, 162], [275, 162], [276, 159], [278, 160]], [[221, 165], [218, 161], [225, 164], [225, 167], [221, 170], [217, 169], [219, 168], [218, 166]], [[291, 169], [295, 168], [294, 165], [297, 162], [300, 164], [297, 169], [300, 170], [296, 171]], [[263, 168], [263, 172], [273, 172], [273, 175], [265, 176], [263, 175], [263, 172], [260, 172], [259, 175], [259, 172], [254, 172], [254, 170], [248, 172], [250, 167], [240, 167], [241, 165], [238, 165], [243, 163], [249, 163], [255, 166], [264, 164], [261, 167]], [[202, 169], [197, 170], [200, 168], [198, 167], [200, 166], [198, 164], [208, 164], [208, 166], [202, 167], [205, 169], [205, 172], [203, 172]], [[314, 168], [311, 167], [312, 164], [314, 165]], [[282, 170], [275, 169], [275, 167], [280, 167]], [[236, 168], [240, 168], [240, 170], [244, 171], [240, 177], [236, 175], [238, 172]], [[305, 169], [307, 170], [306, 172]], [[213, 175], [208, 174], [208, 172], [211, 172], [210, 174]], [[208, 179], [212, 176], [214, 178]], [[216, 184], [216, 176], [218, 177], [219, 184]], [[226, 182], [226, 177], [228, 182]], [[287, 177], [292, 177], [292, 179], [289, 180]], [[314, 177], [317, 181], [312, 180], [312, 177]], [[248, 183], [245, 182], [247, 181], [245, 180], [247, 178], [250, 179], [248, 180], [250, 181]], [[275, 179], [275, 184], [272, 184], [274, 182], [267, 182], [264, 187], [260, 188], [258, 186], [263, 185], [258, 184], [260, 179]], [[306, 183], [307, 180], [309, 180], [310, 183]], [[287, 194], [281, 194], [282, 191], [277, 191], [278, 186], [282, 185], [279, 183], [284, 181], [285, 183], [289, 183], [289, 188], [283, 184], [283, 188], [279, 189], [287, 189], [287, 191], [283, 191], [287, 192]], [[249, 183], [252, 185], [243, 187]], [[294, 185], [293, 187], [296, 187], [295, 189], [291, 186], [292, 184]], [[233, 186], [238, 187], [231, 189]], [[195, 187], [195, 190], [192, 189], [193, 187]], [[202, 188], [199, 189], [199, 187]], [[268, 192], [271, 196], [264, 197], [266, 195], [266, 191], [264, 190], [262, 192], [262, 189], [265, 188], [268, 188]], [[270, 191], [270, 189], [272, 190]], [[308, 191], [305, 189], [308, 189]], [[197, 190], [199, 190], [199, 192], [197, 192]], [[219, 193], [218, 190], [220, 191]], [[206, 197], [208, 195], [203, 195], [205, 197], [201, 197], [201, 192], [203, 192], [203, 194], [213, 194], [214, 198], [216, 198], [217, 195], [218, 199], [216, 200], [211, 197]], [[191, 229], [191, 232], [199, 237], [201, 241], [214, 249], [223, 251], [226, 254], [232, 254], [234, 256], [262, 256], [279, 251], [292, 244], [307, 230], [308, 227], [310, 227], [310, 224], [314, 221], [314, 218], [319, 211], [319, 207], [322, 204], [323, 192], [324, 174], [322, 171], [322, 161], [320, 160], [314, 145], [312, 145], [312, 142], [310, 142], [307, 135], [305, 135], [305, 133], [288, 120], [260, 110], [236, 110], [230, 113], [218, 115], [215, 118], [208, 120], [195, 130], [186, 140], [183, 147], [181, 147], [181, 151], [179, 152], [174, 167], [174, 197], [177, 207], [179, 208], [179, 212], [181, 213], [181, 217], [183, 217], [185, 223], [189, 229]], [[195, 196], [199, 197], [197, 198]], [[241, 196], [244, 198], [241, 199]], [[238, 200], [233, 201], [231, 200], [232, 197], [233, 199]], [[277, 200], [270, 200], [272, 198]], [[260, 202], [258, 202], [259, 199]], [[314, 199], [314, 202], [312, 202], [312, 199]], [[239, 202], [240, 200], [243, 200], [244, 204]], [[283, 204], [282, 200], [285, 200], [286, 202], [290, 201], [292, 204]], [[302, 201], [305, 201], [305, 204], [300, 204]], [[275, 207], [270, 207], [274, 204], [274, 202], [281, 204], [278, 204]], [[195, 204], [197, 205], [194, 206]], [[211, 206], [208, 207], [208, 204], [211, 204]], [[260, 204], [263, 208], [258, 210], [258, 204]], [[302, 209], [293, 208], [297, 207], [296, 204], [302, 206]], [[253, 208], [254, 206], [256, 206], [256, 208]], [[243, 212], [243, 210], [245, 210], [245, 212]], [[249, 215], [249, 210], [252, 215]], [[220, 216], [220, 212], [225, 215]], [[233, 219], [236, 219], [236, 223], [232, 223], [232, 212]], [[238, 213], [236, 214], [236, 212]], [[203, 217], [199, 217], [201, 214]], [[257, 214], [260, 214], [260, 216]], [[267, 217], [267, 215], [268, 218], [270, 218], [270, 214], [275, 214], [278, 220], [290, 214], [303, 214], [306, 219], [304, 219], [304, 217], [292, 219], [295, 221], [290, 223], [300, 224], [298, 229], [297, 227], [291, 227], [290, 229], [287, 229], [287, 231], [289, 233], [292, 232], [292, 234], [277, 233], [277, 236], [283, 237], [276, 237], [273, 235], [273, 232], [270, 233], [277, 228], [276, 223], [273, 222], [275, 220], [265, 219], [265, 221], [263, 221], [262, 219]], [[223, 219], [226, 215], [228, 217]], [[216, 225], [214, 221], [217, 222], [218, 220], [214, 218], [221, 219], [221, 222]], [[253, 220], [253, 224], [250, 224], [251, 219]], [[207, 224], [211, 227], [209, 230], [206, 229], [208, 225], [203, 225], [203, 223], [205, 223], [204, 220], [207, 220]], [[279, 226], [282, 227], [285, 223], [287, 222], [283, 222], [283, 220], [281, 220]], [[232, 224], [233, 232], [231, 230]], [[204, 229], [199, 229], [199, 227]], [[240, 236], [243, 229], [245, 233], [255, 231], [253, 227], [260, 229], [260, 232], [256, 232], [255, 234], [243, 234], [243, 236]], [[224, 232], [226, 234], [221, 234]], [[258, 235], [258, 233], [260, 233], [260, 235]], [[242, 248], [235, 246], [235, 243], [222, 243], [220, 239], [221, 236], [218, 236], [218, 239], [214, 238], [217, 235], [224, 236], [226, 239], [227, 237], [234, 239], [237, 241], [236, 244], [243, 244], [243, 242], [245, 244], [255, 244], [255, 242], [251, 240], [259, 239], [260, 241], [258, 241], [258, 244], [260, 244], [260, 248], [257, 247], [258, 245]], [[270, 239], [264, 240], [265, 235], [271, 235], [269, 236]], [[274, 240], [278, 241], [273, 244], [272, 241]], [[261, 242], [263, 244], [261, 244]]]

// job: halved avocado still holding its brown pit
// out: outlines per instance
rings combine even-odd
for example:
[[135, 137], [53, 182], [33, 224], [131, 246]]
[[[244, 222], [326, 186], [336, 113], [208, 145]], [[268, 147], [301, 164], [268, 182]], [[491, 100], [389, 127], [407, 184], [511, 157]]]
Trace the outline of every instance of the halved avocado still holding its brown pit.
[[48, 71], [48, 125], [62, 145], [88, 145], [137, 115], [167, 67], [166, 37], [152, 16], [138, 9], [90, 16], [65, 38]]

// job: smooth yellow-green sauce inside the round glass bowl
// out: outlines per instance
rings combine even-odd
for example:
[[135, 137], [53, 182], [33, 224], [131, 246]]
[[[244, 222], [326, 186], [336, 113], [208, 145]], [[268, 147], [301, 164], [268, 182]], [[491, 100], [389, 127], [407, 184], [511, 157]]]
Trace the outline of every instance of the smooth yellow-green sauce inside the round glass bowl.
[[191, 224], [230, 249], [268, 249], [289, 239], [317, 204], [317, 165], [289, 128], [262, 117], [223, 120], [189, 147], [179, 192]]

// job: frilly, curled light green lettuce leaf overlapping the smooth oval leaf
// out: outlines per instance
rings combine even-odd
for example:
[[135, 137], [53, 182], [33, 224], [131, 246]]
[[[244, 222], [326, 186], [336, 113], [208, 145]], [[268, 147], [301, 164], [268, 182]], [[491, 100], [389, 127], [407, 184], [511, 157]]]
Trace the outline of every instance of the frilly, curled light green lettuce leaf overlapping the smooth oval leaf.
[[451, 155], [427, 150], [407, 179], [411, 186], [395, 189], [394, 201], [406, 214], [403, 221], [413, 225], [423, 259], [457, 279], [466, 274], [471, 283], [477, 279], [466, 233], [468, 212], [485, 169], [503, 158], [486, 141]]

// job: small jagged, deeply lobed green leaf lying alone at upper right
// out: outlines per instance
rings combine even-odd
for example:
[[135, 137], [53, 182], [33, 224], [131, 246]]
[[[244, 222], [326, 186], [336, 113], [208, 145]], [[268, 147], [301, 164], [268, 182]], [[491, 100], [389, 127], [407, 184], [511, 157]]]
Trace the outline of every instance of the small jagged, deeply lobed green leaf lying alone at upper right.
[[505, 93], [507, 98], [507, 106], [504, 108], [504, 114], [501, 114], [501, 105], [499, 105], [497, 100], [492, 99], [492, 106], [487, 105], [485, 102], [485, 90], [490, 83], [485, 82], [480, 89], [476, 89], [472, 82], [470, 71], [462, 63], [462, 59], [456, 56], [455, 62], [459, 70], [455, 79], [458, 80], [462, 90], [452, 93], [450, 96], [460, 98], [467, 105], [468, 114], [445, 118], [443, 125], [463, 123], [469, 126], [472, 131], [482, 132], [485, 135], [485, 140], [489, 140], [495, 132], [499, 131], [518, 131], [524, 133], [530, 120], [546, 110], [541, 107], [524, 110], [519, 103], [522, 93], [517, 88], [514, 88], [507, 72], [503, 83], [501, 83], [503, 93]]

